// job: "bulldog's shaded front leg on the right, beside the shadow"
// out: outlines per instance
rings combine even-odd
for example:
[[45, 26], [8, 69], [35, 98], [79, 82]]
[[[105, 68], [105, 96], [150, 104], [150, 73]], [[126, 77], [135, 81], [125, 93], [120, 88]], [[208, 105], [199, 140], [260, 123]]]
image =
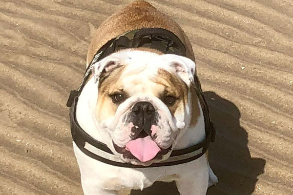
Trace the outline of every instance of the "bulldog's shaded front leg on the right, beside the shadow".
[[206, 195], [209, 183], [208, 169], [194, 172], [194, 175], [182, 176], [176, 181], [180, 195]]

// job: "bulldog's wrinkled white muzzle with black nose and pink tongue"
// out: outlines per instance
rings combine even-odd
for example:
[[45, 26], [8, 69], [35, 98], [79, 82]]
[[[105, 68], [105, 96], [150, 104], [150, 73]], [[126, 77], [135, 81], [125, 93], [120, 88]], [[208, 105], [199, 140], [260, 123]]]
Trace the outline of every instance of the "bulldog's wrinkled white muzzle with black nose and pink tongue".
[[122, 159], [159, 161], [169, 155], [175, 128], [169, 125], [172, 118], [167, 106], [160, 99], [148, 96], [131, 97], [123, 104], [121, 119], [111, 134], [113, 146]]

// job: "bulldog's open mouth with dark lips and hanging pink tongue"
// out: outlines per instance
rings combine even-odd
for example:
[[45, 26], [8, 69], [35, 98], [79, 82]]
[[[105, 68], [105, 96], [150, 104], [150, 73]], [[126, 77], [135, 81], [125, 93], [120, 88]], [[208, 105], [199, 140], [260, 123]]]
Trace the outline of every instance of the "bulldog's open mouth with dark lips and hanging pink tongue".
[[135, 159], [140, 162], [148, 162], [150, 160], [161, 160], [170, 150], [171, 146], [167, 149], [161, 149], [150, 136], [139, 137], [129, 141], [126, 147], [121, 148], [113, 142], [115, 150], [123, 154], [126, 159]]

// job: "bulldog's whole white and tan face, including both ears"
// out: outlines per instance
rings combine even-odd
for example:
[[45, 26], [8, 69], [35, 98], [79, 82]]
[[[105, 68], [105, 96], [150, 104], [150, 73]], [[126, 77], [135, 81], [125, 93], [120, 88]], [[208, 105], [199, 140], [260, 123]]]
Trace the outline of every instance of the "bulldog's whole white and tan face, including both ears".
[[169, 157], [190, 123], [192, 60], [123, 50], [92, 66], [98, 83], [95, 117], [113, 151], [133, 164]]

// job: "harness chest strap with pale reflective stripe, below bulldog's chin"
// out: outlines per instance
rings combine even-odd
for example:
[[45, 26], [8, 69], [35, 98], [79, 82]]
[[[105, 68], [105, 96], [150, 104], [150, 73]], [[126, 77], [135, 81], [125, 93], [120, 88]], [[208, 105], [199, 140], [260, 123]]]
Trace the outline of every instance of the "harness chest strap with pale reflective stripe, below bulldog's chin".
[[[122, 161], [119, 157], [114, 156], [112, 151], [102, 142], [94, 139], [88, 135], [79, 125], [76, 119], [76, 107], [78, 97], [74, 98], [70, 109], [70, 127], [72, 139], [76, 143], [77, 147], [87, 156], [90, 156], [96, 160], [110, 164], [113, 166], [127, 167], [127, 168], [145, 168], [146, 166], [129, 164]], [[170, 157], [159, 163], [153, 163], [147, 167], [161, 167], [161, 166], [172, 166], [190, 162], [203, 156], [210, 143], [211, 134], [207, 135], [207, 138], [194, 146], [174, 150]]]

